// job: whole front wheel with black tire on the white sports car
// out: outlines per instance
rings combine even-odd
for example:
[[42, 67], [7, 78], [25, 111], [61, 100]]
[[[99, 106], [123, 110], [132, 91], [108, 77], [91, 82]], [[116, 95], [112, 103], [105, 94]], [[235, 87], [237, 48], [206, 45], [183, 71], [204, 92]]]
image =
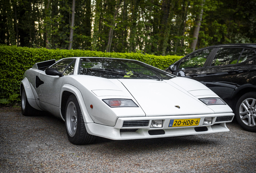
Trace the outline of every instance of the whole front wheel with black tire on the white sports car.
[[87, 133], [79, 103], [74, 95], [70, 95], [66, 103], [65, 126], [68, 140], [72, 144], [85, 145], [96, 138]]

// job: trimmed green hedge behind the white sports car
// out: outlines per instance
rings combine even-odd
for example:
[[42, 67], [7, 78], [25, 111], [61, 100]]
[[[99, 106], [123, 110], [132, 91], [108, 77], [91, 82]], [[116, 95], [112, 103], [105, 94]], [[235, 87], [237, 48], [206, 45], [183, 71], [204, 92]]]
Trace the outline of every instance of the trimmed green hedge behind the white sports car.
[[141, 53], [107, 53], [90, 50], [49, 50], [0, 45], [0, 104], [19, 101], [20, 82], [25, 70], [36, 62], [67, 57], [112, 57], [145, 62], [160, 69], [167, 68], [182, 56], [155, 56]]

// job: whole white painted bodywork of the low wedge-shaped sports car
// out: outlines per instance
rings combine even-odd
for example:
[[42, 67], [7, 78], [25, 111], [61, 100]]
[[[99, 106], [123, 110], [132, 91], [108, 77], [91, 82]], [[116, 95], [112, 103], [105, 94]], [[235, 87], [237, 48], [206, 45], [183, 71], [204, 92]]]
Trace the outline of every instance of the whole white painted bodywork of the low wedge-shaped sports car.
[[[78, 74], [80, 57], [76, 57], [74, 74], [49, 76], [45, 71], [29, 69], [24, 74], [21, 87], [25, 88], [29, 104], [38, 110], [52, 113], [64, 120], [66, 105], [64, 93], [76, 96], [87, 132], [109, 139], [144, 139], [226, 132], [225, 123], [231, 122], [233, 113], [228, 105], [206, 105], [199, 99], [219, 98], [205, 85], [183, 77], [169, 80], [103, 78]], [[35, 87], [35, 76], [43, 84]], [[138, 107], [113, 107], [103, 99], [131, 99]], [[65, 103], [65, 102], [64, 102]], [[176, 107], [175, 107], [176, 106]], [[213, 122], [203, 125], [205, 117]], [[231, 117], [215, 122], [217, 117]], [[171, 119], [200, 118], [197, 126], [168, 127]], [[147, 127], [123, 127], [124, 121], [148, 120]], [[151, 128], [152, 120], [163, 120], [163, 127]], [[214, 125], [215, 123], [219, 125]], [[206, 131], [195, 131], [194, 127], [207, 127]], [[123, 132], [122, 129], [138, 129]], [[165, 134], [150, 135], [151, 130], [163, 130]]]

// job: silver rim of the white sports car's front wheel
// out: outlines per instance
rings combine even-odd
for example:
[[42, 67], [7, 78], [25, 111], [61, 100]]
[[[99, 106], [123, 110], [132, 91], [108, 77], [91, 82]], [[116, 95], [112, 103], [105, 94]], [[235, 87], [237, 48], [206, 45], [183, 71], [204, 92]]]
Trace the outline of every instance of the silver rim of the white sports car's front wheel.
[[76, 134], [76, 127], [77, 127], [77, 113], [76, 113], [76, 106], [74, 102], [68, 103], [67, 110], [66, 110], [66, 125], [68, 134], [73, 137]]

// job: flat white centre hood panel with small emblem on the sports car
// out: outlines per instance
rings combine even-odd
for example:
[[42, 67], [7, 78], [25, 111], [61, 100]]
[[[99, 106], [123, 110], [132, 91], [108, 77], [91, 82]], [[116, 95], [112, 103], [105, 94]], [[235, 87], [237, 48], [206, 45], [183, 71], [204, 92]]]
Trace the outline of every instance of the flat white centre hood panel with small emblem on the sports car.
[[[172, 79], [164, 81], [145, 79], [118, 80], [134, 97], [146, 116], [214, 113], [212, 109], [188, 91], [171, 82]], [[199, 82], [196, 81], [196, 83]], [[200, 83], [199, 86], [201, 86]]]

